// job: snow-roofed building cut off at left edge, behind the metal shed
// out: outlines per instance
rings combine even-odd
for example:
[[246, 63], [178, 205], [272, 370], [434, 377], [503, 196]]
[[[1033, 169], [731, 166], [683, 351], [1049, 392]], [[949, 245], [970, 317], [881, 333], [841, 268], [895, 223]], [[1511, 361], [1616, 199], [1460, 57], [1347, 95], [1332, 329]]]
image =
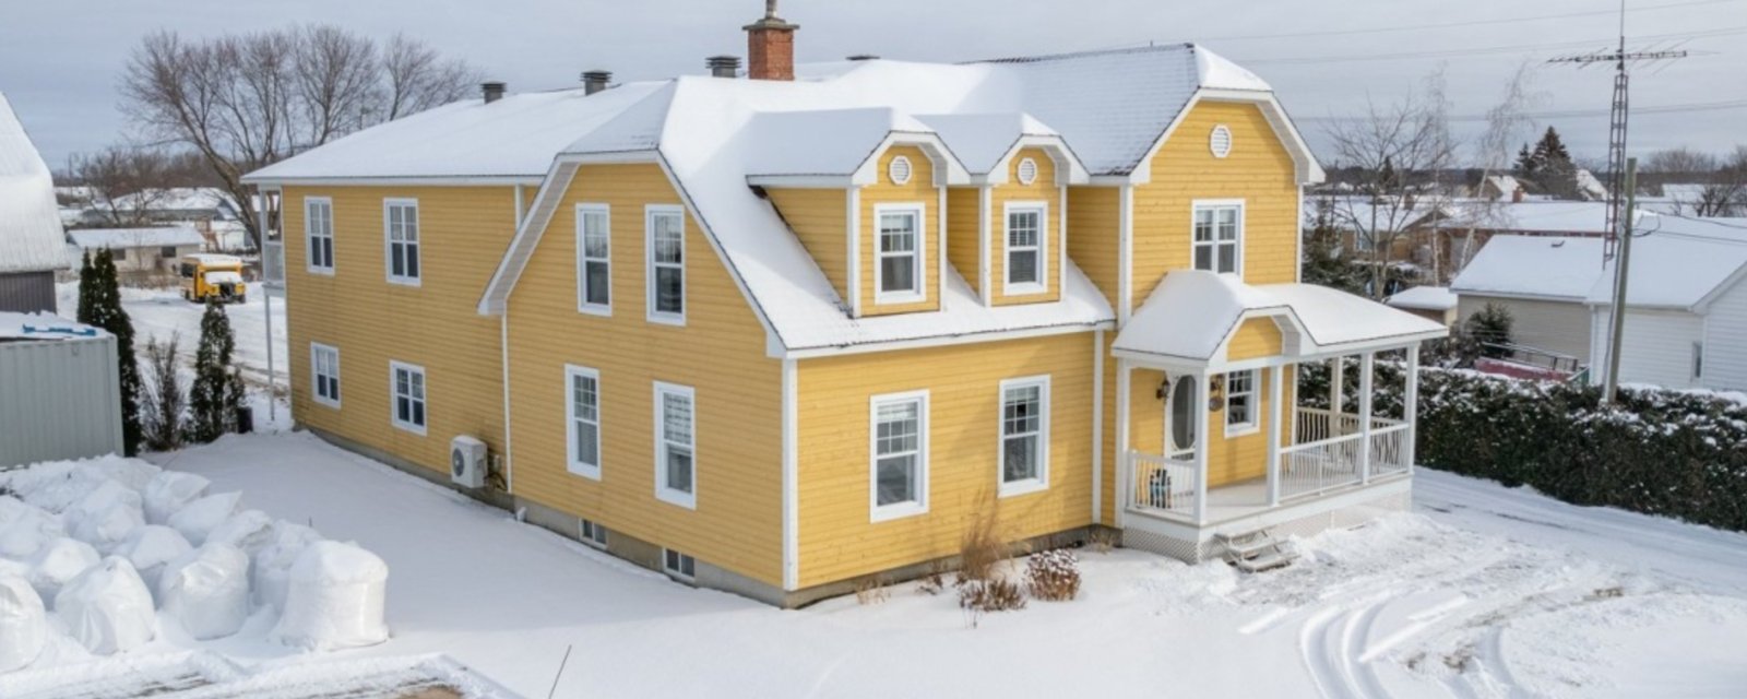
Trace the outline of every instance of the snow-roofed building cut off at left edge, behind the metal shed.
[[54, 313], [61, 269], [66, 248], [54, 180], [0, 94], [0, 311]]

